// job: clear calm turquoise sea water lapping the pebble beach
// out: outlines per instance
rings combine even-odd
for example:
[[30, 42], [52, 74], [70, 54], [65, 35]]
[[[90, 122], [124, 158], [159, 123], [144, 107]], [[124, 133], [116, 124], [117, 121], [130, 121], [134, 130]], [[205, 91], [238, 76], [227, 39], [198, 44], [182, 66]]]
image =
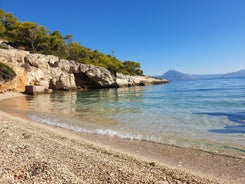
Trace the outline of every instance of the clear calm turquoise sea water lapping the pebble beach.
[[245, 156], [245, 78], [57, 92], [0, 109], [80, 132]]

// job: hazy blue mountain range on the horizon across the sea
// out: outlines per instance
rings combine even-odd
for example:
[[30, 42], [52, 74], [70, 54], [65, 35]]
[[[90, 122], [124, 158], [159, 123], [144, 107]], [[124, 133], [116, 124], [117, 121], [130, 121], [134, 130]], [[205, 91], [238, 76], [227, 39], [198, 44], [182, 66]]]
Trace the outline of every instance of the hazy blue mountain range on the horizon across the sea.
[[212, 74], [212, 75], [193, 75], [184, 74], [176, 70], [169, 70], [161, 76], [158, 76], [167, 80], [197, 80], [197, 79], [220, 79], [220, 78], [237, 78], [245, 77], [245, 70], [238, 72], [231, 72], [226, 74]]

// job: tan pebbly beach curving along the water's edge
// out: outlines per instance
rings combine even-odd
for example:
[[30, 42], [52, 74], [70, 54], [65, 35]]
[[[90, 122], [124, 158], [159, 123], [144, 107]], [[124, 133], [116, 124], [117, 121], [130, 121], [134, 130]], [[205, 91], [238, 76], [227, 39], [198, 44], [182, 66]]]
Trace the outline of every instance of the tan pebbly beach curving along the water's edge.
[[[0, 101], [20, 95], [22, 94], [0, 94]], [[68, 169], [69, 172], [67, 171], [62, 174], [58, 174], [56, 176], [57, 180], [53, 179], [53, 182], [58, 182], [58, 179], [64, 177], [63, 175], [69, 175], [69, 181], [88, 181], [89, 183], [96, 181], [97, 183], [103, 183], [103, 181], [110, 183], [109, 180], [114, 181], [112, 183], [127, 183], [126, 181], [129, 181], [129, 183], [134, 183], [133, 181], [149, 183], [154, 183], [156, 181], [162, 181], [165, 183], [187, 183], [187, 181], [190, 183], [216, 183], [216, 181], [220, 183], [245, 182], [245, 179], [243, 178], [245, 172], [245, 160], [242, 158], [218, 155], [191, 148], [181, 148], [146, 141], [120, 139], [116, 137], [88, 133], [78, 133], [71, 130], [52, 127], [46, 124], [28, 121], [1, 111], [0, 118], [0, 130], [2, 131], [2, 134], [0, 135], [4, 140], [1, 143], [3, 144], [1, 145], [3, 150], [0, 150], [0, 153], [2, 152], [0, 155], [3, 156], [0, 157], [0, 163], [6, 162], [6, 164], [3, 164], [4, 167], [2, 166], [1, 168], [2, 172], [0, 172], [0, 181], [11, 180], [20, 182], [23, 181], [23, 179], [25, 179], [25, 181], [43, 181], [44, 178], [43, 176], [40, 176], [41, 174], [51, 173], [52, 170], [55, 170], [57, 173], [59, 173], [55, 164], [59, 165], [59, 163], [56, 163], [56, 161], [63, 159], [62, 164], [66, 166], [65, 168], [72, 167], [73, 169]], [[8, 136], [4, 136], [6, 133]], [[17, 137], [15, 137], [13, 134], [20, 134], [20, 140], [16, 139]], [[46, 142], [48, 142], [49, 145], [47, 145]], [[6, 149], [10, 143], [17, 146], [17, 148], [18, 144], [24, 145], [22, 150], [23, 153], [19, 153], [17, 151], [17, 155], [22, 158], [22, 162], [18, 161], [19, 164], [15, 166], [7, 164], [8, 160], [11, 160], [10, 158], [12, 158], [11, 154], [15, 153], [15, 151], [12, 151], [13, 153], [9, 153], [9, 150]], [[52, 148], [52, 146], [54, 146], [54, 148]], [[65, 147], [66, 151], [60, 149], [60, 147]], [[90, 153], [86, 153], [88, 150], [83, 149], [85, 147], [89, 148], [90, 152], [93, 152], [94, 150], [97, 150], [97, 152], [93, 152], [94, 155], [92, 157]], [[41, 148], [43, 148], [43, 150]], [[75, 150], [80, 156], [74, 155], [72, 152], [74, 151], [73, 148], [76, 148]], [[49, 153], [50, 150], [52, 150], [52, 152]], [[39, 154], [34, 154], [36, 152]], [[86, 158], [88, 160], [83, 159], [83, 154], [81, 153], [87, 155]], [[46, 154], [49, 155], [49, 160], [45, 160]], [[65, 154], [66, 157], [57, 156], [62, 154]], [[70, 154], [73, 155], [73, 159], [71, 158]], [[39, 158], [40, 155], [41, 158]], [[31, 160], [26, 159], [26, 157], [35, 157], [35, 162], [31, 162]], [[108, 157], [105, 160], [107, 160], [109, 164], [107, 164], [107, 162], [104, 162], [104, 165], [100, 164], [104, 157]], [[23, 161], [24, 158], [26, 159], [25, 161]], [[73, 162], [75, 161], [80, 163], [79, 167], [74, 166]], [[18, 172], [20, 167], [19, 165], [30, 165], [29, 162], [31, 162], [32, 166], [33, 163], [39, 163], [36, 163], [37, 166], [35, 165], [35, 167], [37, 167], [37, 171], [33, 171], [38, 172], [37, 176], [32, 176], [30, 174], [29, 171], [33, 169], [33, 167], [31, 167], [29, 169], [22, 170], [23, 177], [21, 176], [20, 179], [18, 179], [18, 177], [16, 178], [15, 172]], [[81, 166], [84, 165], [83, 163], [85, 163], [85, 165], [86, 163], [88, 165], [95, 164], [96, 167], [86, 168]], [[54, 165], [52, 166], [52, 164]], [[6, 168], [10, 166], [12, 168], [10, 170], [14, 170], [12, 175], [11, 173], [5, 171]], [[134, 166], [132, 167], [134, 169], [130, 168], [129, 166]], [[120, 167], [126, 167], [126, 175], [124, 172], [119, 170]], [[99, 171], [97, 170], [98, 168], [100, 168]], [[99, 181], [97, 177], [92, 177], [91, 173], [83, 175], [82, 173], [75, 173], [76, 170], [87, 170], [88, 172], [96, 170], [94, 175], [106, 178]], [[102, 171], [103, 175], [101, 174]], [[104, 171], [114, 174], [108, 176], [108, 173], [106, 174]], [[119, 175], [121, 177], [119, 177]], [[123, 182], [123, 180], [121, 180], [122, 178], [125, 178], [126, 180]], [[52, 181], [50, 180], [51, 183]]]

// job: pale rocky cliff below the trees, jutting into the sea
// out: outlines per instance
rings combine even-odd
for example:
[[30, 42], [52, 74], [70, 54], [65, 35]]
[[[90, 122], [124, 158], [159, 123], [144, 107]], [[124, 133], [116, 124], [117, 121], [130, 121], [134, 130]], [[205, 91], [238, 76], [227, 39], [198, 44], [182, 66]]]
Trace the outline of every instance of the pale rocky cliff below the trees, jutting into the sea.
[[0, 62], [12, 67], [17, 74], [12, 81], [0, 82], [0, 91], [24, 91], [25, 86], [39, 86], [43, 90], [69, 90], [167, 83], [164, 79], [148, 76], [111, 74], [102, 67], [13, 48], [0, 49]]

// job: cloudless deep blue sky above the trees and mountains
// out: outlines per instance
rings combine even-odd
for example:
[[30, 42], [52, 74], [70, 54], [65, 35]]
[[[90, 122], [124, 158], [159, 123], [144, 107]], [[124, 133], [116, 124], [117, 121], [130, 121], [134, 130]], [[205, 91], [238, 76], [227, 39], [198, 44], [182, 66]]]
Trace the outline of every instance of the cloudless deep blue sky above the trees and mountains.
[[0, 0], [0, 8], [138, 61], [146, 75], [245, 69], [244, 0]]

